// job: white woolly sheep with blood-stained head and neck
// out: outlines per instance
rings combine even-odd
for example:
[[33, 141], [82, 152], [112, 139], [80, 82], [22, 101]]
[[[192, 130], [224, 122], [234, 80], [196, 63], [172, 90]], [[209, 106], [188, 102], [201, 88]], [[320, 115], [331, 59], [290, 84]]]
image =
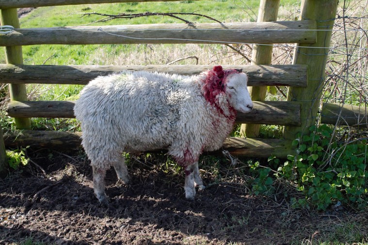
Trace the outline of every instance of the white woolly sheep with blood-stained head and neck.
[[184, 168], [186, 199], [194, 200], [195, 187], [205, 188], [199, 155], [221, 148], [237, 110], [253, 109], [247, 82], [241, 70], [222, 66], [195, 76], [123, 71], [89, 82], [74, 113], [93, 168], [96, 198], [109, 203], [104, 178], [111, 166], [119, 180], [129, 183], [123, 152], [167, 149]]

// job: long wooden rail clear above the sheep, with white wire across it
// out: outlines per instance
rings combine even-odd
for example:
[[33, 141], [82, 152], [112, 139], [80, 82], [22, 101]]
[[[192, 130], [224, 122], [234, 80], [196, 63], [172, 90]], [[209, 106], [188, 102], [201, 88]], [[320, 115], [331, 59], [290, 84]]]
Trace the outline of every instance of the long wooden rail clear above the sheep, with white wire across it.
[[315, 43], [315, 21], [147, 24], [16, 29], [0, 46], [40, 44]]

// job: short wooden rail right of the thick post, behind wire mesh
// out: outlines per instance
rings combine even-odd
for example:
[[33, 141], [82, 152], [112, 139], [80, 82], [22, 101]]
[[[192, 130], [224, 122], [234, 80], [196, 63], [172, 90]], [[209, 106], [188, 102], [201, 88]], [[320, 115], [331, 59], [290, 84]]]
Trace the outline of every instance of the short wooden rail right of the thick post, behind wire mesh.
[[323, 103], [321, 122], [368, 128], [367, 111], [368, 107]]

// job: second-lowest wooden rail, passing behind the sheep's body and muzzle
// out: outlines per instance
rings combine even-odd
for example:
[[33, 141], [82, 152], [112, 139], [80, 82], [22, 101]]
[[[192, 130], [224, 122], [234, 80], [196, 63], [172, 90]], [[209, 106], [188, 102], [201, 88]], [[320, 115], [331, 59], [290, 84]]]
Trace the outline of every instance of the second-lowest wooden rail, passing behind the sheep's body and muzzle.
[[[13, 101], [8, 104], [7, 112], [17, 118], [74, 118], [73, 108], [74, 101]], [[250, 113], [238, 113], [237, 122], [298, 126], [301, 124], [300, 104], [255, 101]]]

